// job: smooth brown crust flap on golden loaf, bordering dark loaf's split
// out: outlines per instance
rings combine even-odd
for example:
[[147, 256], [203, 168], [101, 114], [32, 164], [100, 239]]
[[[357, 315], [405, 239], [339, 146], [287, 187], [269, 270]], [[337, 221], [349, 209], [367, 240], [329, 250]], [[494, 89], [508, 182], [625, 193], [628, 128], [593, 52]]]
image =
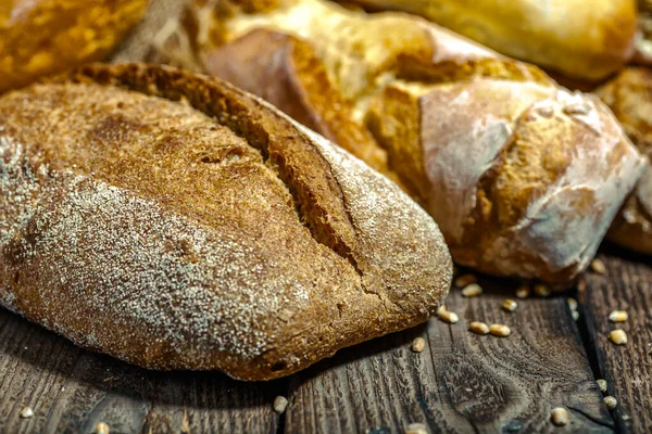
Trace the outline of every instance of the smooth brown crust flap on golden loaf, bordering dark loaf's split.
[[[308, 42], [256, 29], [213, 51], [205, 71], [262, 97], [376, 170], [388, 171], [386, 152], [353, 120], [353, 104], [333, 86]], [[276, 81], [274, 87], [267, 84], [269, 77]]]

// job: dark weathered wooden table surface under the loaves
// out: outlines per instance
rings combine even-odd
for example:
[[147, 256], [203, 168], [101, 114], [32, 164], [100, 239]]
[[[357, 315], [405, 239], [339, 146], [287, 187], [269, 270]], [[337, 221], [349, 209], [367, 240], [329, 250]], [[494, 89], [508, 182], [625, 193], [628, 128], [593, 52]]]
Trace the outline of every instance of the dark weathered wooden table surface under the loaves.
[[[652, 432], [652, 266], [610, 247], [605, 276], [587, 273], [586, 289], [501, 309], [516, 283], [481, 279], [485, 294], [453, 290], [448, 308], [460, 322], [427, 324], [339, 352], [306, 371], [268, 383], [217, 372], [160, 373], [79, 349], [0, 309], [0, 432], [91, 433], [402, 433]], [[573, 320], [566, 296], [579, 301]], [[625, 346], [607, 340], [607, 320], [624, 309]], [[503, 322], [509, 337], [467, 331], [473, 320]], [[416, 336], [423, 353], [410, 350]], [[618, 406], [609, 411], [595, 379]], [[277, 395], [286, 413], [273, 410]], [[22, 419], [29, 406], [34, 417]], [[570, 424], [550, 411], [565, 407]]]

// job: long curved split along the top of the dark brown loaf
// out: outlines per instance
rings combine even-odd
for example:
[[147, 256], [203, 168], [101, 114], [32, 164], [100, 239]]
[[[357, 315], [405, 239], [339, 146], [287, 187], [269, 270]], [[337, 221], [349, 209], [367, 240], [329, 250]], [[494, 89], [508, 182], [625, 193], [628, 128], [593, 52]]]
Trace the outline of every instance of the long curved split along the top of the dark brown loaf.
[[[73, 82], [92, 80], [103, 85], [124, 87], [171, 101], [183, 99], [193, 108], [231, 129], [261, 153], [267, 167], [287, 187], [294, 201], [299, 219], [310, 229], [315, 241], [344, 258], [362, 277], [364, 265], [359, 264], [356, 259], [359, 254], [355, 253], [355, 233], [343, 201], [341, 187], [330, 174], [330, 168], [323, 157], [310, 149], [310, 145], [306, 146], [309, 142], [300, 136], [283, 137], [278, 135], [277, 130], [286, 127], [287, 122], [278, 116], [275, 116], [274, 119], [265, 119], [258, 114], [254, 115], [254, 103], [240, 98], [240, 92], [235, 88], [210, 86], [214, 81], [206, 77], [204, 79], [205, 89], [210, 90], [208, 92], [205, 89], [198, 91], [196, 87], [188, 88], [187, 73], [167, 71], [165, 79], [162, 79], [156, 75], [161, 71], [163, 69], [134, 64], [90, 65], [79, 68], [73, 76], [63, 77]], [[172, 80], [168, 79], [171, 73], [175, 76]], [[57, 79], [51, 81], [55, 82]], [[243, 116], [241, 114], [243, 111], [250, 115]], [[235, 116], [234, 113], [239, 113], [239, 115]], [[280, 127], [279, 124], [281, 124]], [[305, 166], [300, 166], [297, 162], [291, 161], [292, 151], [301, 153], [304, 158], [310, 158], [321, 170], [316, 174], [309, 174], [312, 176], [302, 174], [301, 168]], [[322, 191], [313, 191], [315, 176], [322, 178], [322, 184], [318, 186], [323, 189]], [[329, 194], [325, 194], [325, 191]], [[326, 196], [335, 197], [335, 200], [326, 199]], [[326, 199], [326, 203], [323, 203], [324, 199]], [[336, 220], [333, 219], [333, 216], [336, 216]]]

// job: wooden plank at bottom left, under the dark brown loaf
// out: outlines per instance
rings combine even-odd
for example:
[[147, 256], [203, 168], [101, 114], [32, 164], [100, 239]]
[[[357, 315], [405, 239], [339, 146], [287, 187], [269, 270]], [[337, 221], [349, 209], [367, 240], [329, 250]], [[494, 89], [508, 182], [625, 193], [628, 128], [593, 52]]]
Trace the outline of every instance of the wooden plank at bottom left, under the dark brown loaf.
[[[274, 433], [284, 382], [153, 372], [86, 352], [0, 309], [0, 433]], [[29, 406], [34, 417], [21, 419]]]

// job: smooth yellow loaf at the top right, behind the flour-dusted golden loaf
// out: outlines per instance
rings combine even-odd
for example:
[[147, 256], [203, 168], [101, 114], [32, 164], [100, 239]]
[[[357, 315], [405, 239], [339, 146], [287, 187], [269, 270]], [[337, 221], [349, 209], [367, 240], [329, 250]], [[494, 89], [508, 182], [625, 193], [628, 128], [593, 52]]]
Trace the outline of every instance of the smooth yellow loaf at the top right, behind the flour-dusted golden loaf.
[[593, 81], [631, 58], [637, 33], [636, 0], [348, 1], [414, 13], [503, 54]]

